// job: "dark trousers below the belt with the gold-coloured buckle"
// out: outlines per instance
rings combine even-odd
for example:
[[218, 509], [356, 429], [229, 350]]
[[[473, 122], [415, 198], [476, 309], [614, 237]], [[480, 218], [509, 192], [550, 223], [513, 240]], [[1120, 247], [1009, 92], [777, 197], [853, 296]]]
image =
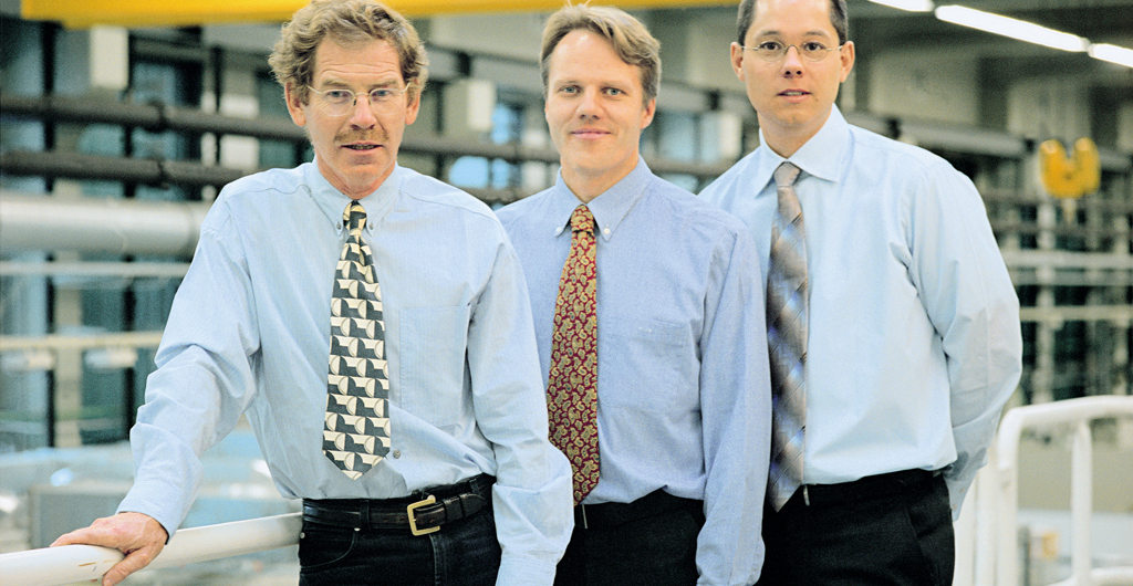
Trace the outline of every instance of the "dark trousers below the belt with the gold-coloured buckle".
[[500, 542], [491, 500], [428, 535], [304, 522], [300, 586], [493, 586]]

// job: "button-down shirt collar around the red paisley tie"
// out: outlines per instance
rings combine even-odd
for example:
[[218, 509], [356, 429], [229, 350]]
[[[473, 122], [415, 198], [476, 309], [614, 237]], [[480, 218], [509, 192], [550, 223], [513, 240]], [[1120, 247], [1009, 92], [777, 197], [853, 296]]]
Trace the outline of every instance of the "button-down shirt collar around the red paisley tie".
[[[603, 191], [586, 205], [590, 208], [590, 213], [594, 214], [595, 230], [602, 235], [603, 240], [608, 242], [613, 238], [614, 231], [621, 224], [625, 214], [641, 199], [651, 178], [653, 171], [649, 170], [649, 165], [645, 163], [645, 160], [638, 155], [638, 164], [633, 167], [633, 171], [630, 171], [621, 181], [614, 183], [610, 189]], [[556, 235], [561, 234], [570, 224], [570, 216], [580, 204], [581, 201], [574, 196], [574, 192], [566, 187], [566, 182], [563, 181], [562, 171], [560, 170], [559, 176], [555, 179], [555, 187], [551, 190], [550, 216], [555, 222]]]

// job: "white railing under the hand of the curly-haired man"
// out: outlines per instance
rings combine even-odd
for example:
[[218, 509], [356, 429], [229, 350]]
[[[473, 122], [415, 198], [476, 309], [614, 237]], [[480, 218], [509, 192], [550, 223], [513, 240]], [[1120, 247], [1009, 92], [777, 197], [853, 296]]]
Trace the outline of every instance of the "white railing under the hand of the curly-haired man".
[[[300, 514], [178, 531], [147, 569], [169, 568], [299, 543]], [[56, 586], [101, 578], [121, 561], [118, 550], [62, 545], [0, 554], [0, 586]]]

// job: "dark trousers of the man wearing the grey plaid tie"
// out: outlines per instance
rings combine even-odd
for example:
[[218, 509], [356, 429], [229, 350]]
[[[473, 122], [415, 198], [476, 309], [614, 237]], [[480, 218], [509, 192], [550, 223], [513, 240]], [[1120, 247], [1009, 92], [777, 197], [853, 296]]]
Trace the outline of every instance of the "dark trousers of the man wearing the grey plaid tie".
[[944, 476], [905, 471], [808, 488], [764, 508], [758, 586], [951, 586], [955, 537]]

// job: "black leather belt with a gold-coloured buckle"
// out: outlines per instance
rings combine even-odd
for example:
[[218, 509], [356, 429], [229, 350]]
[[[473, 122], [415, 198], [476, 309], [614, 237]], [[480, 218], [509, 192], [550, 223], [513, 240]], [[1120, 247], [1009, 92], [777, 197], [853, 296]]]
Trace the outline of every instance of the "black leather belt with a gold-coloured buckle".
[[480, 474], [401, 499], [304, 499], [303, 520], [358, 529], [409, 528], [414, 535], [425, 535], [483, 509], [494, 483], [493, 476]]

